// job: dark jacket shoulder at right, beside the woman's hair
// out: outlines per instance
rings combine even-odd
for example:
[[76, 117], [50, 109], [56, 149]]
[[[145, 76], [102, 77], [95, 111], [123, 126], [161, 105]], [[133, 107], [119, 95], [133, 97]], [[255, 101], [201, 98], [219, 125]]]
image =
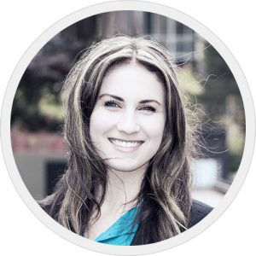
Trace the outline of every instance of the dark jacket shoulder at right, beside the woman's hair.
[[193, 200], [190, 210], [189, 228], [193, 227], [195, 224], [198, 224], [203, 218], [212, 212], [212, 209], [212, 207], [201, 201]]

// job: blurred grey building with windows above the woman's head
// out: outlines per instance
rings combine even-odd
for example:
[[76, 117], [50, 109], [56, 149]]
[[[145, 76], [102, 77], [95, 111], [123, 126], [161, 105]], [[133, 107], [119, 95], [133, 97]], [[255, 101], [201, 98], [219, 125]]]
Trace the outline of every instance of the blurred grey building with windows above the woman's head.
[[150, 36], [169, 49], [173, 57], [181, 62], [193, 63], [203, 70], [204, 39], [198, 33], [176, 20], [141, 11], [116, 11], [91, 16], [69, 26], [61, 32], [62, 38], [75, 38], [77, 42], [92, 42], [116, 34], [144, 37]]

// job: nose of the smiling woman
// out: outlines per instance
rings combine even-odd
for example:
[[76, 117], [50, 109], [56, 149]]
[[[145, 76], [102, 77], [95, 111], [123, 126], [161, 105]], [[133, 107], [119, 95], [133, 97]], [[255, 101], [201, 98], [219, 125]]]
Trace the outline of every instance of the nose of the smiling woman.
[[124, 113], [117, 124], [117, 130], [127, 134], [137, 133], [140, 129], [134, 113]]

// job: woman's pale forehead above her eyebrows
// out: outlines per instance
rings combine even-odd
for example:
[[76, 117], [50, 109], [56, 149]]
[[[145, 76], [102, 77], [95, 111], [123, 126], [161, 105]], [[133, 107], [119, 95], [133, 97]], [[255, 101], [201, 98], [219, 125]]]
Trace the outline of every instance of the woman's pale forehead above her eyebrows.
[[164, 85], [155, 73], [138, 64], [114, 67], [103, 79], [100, 94], [164, 102]]

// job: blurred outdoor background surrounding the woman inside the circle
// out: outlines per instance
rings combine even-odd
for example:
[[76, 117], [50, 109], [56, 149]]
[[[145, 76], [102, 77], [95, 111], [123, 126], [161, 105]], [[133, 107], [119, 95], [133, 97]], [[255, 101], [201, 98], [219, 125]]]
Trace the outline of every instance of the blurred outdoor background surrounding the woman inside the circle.
[[16, 166], [38, 200], [52, 193], [67, 166], [59, 94], [84, 49], [117, 33], [150, 36], [166, 46], [179, 66], [178, 79], [201, 120], [201, 156], [193, 163], [193, 197], [215, 207], [239, 168], [245, 114], [236, 79], [224, 59], [188, 26], [140, 11], [91, 16], [55, 35], [20, 79], [11, 117]]

